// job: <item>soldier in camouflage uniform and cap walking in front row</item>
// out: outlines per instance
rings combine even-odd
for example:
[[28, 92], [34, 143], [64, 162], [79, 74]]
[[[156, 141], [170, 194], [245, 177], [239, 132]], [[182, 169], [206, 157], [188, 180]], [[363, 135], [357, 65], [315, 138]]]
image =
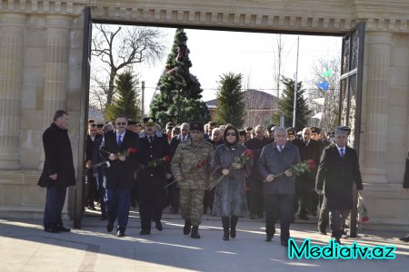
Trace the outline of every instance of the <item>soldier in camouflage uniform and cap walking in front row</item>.
[[191, 238], [200, 238], [203, 199], [205, 189], [209, 186], [214, 149], [210, 143], [203, 140], [203, 123], [192, 122], [190, 131], [191, 138], [179, 144], [171, 165], [180, 189], [180, 210], [182, 218], [185, 219], [184, 234], [188, 235], [192, 228]]

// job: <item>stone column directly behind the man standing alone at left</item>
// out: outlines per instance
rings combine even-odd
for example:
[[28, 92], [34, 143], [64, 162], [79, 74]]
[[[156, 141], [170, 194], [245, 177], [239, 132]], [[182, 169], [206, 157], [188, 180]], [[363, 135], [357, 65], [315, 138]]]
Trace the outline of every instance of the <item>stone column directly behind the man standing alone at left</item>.
[[[43, 130], [53, 121], [57, 110], [66, 110], [69, 32], [72, 19], [65, 15], [46, 16], [45, 84]], [[39, 169], [44, 166], [45, 155], [41, 147]]]

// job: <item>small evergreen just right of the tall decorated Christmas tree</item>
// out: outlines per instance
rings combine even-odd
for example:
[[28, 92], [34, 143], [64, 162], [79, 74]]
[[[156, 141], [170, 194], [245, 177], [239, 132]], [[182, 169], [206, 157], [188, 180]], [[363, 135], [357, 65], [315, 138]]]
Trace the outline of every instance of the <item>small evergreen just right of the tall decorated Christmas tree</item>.
[[220, 76], [217, 91], [217, 110], [215, 121], [218, 124], [231, 123], [236, 128], [244, 124], [244, 93], [241, 73], [224, 73]]

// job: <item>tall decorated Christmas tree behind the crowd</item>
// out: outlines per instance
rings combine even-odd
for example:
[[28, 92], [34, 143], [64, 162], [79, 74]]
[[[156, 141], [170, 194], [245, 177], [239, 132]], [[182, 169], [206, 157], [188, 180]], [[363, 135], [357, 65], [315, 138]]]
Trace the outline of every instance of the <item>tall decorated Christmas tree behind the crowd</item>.
[[186, 45], [187, 36], [183, 28], [178, 28], [172, 51], [169, 53], [165, 72], [158, 83], [159, 92], [155, 93], [150, 105], [150, 114], [162, 124], [168, 121], [209, 121], [210, 115], [202, 101], [200, 83], [195, 75], [189, 73], [192, 63]]

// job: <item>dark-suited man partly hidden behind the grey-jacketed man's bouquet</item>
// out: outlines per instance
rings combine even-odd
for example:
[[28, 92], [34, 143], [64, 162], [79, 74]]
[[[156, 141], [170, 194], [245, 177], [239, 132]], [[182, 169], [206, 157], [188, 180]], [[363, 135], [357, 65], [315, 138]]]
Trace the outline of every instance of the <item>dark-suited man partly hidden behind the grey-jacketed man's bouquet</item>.
[[[294, 144], [297, 145], [298, 151], [300, 151], [301, 160], [314, 160], [315, 165], [318, 165], [321, 157], [321, 147], [317, 141], [311, 139], [311, 129], [304, 128], [302, 136], [303, 141], [294, 141]], [[311, 172], [304, 173], [296, 178], [295, 185], [295, 196], [293, 200], [293, 219], [294, 214], [298, 210], [298, 203], [300, 203], [300, 213], [298, 217], [300, 219], [308, 220], [307, 209], [310, 206], [310, 202], [313, 199], [313, 194], [316, 194], [314, 191], [315, 185], [315, 175], [316, 170]], [[317, 206], [314, 207], [314, 214], [316, 215]]]

